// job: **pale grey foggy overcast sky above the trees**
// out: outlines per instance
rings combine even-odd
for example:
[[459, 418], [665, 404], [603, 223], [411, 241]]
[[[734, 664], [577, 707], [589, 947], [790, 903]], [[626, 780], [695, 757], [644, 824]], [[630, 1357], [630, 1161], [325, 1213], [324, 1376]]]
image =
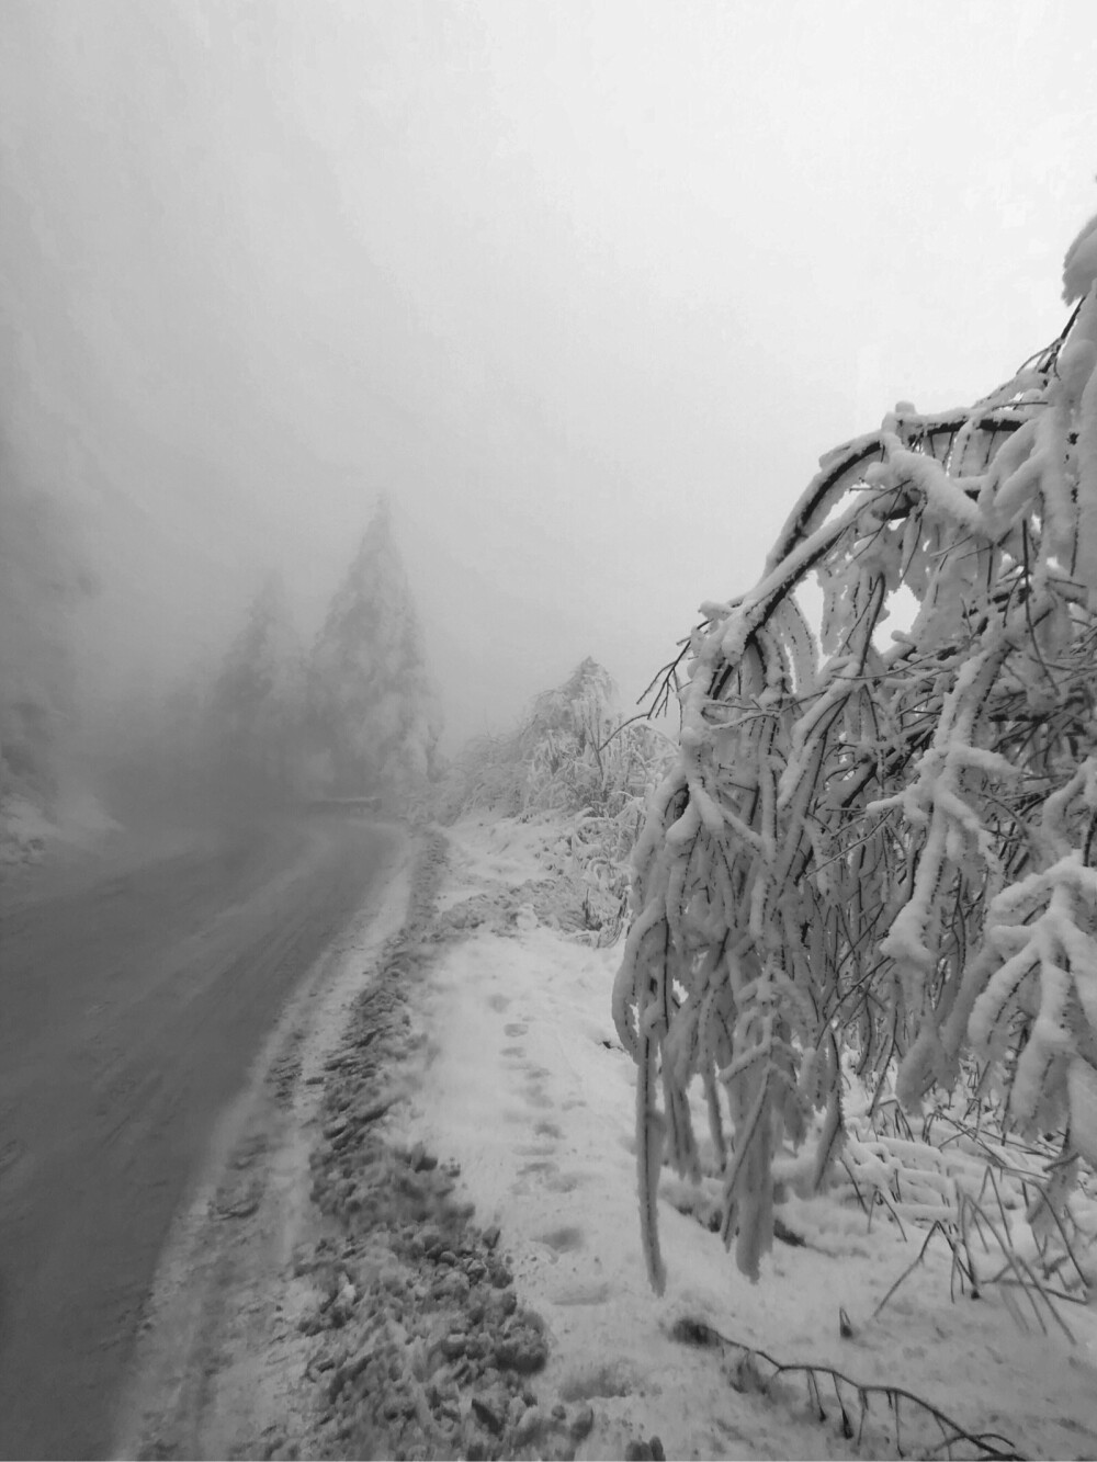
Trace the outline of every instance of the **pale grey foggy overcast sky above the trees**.
[[451, 746], [633, 699], [818, 456], [1059, 333], [1091, 0], [0, 0], [0, 423], [114, 686], [379, 491]]

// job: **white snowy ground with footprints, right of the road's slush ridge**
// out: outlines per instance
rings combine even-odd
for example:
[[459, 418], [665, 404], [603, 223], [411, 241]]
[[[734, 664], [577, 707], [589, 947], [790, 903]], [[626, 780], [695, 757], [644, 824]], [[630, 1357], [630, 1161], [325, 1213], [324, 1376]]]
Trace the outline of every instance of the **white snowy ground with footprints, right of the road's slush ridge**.
[[[582, 943], [566, 909], [554, 917], [551, 825], [470, 817], [448, 839], [439, 911], [458, 937], [417, 997], [426, 1069], [401, 1120], [407, 1140], [461, 1164], [478, 1221], [500, 1225], [521, 1303], [547, 1322], [541, 1389], [594, 1409], [579, 1456], [625, 1456], [630, 1443], [658, 1455], [652, 1437], [680, 1458], [894, 1456], [891, 1387], [999, 1455], [1097, 1455], [1094, 1307], [1058, 1306], [1071, 1341], [1018, 1288], [951, 1300], [952, 1256], [938, 1234], [878, 1314], [929, 1222], [901, 1232], [876, 1208], [869, 1225], [848, 1189], [783, 1205], [785, 1241], [752, 1285], [705, 1227], [704, 1203], [689, 1212], [667, 1174], [668, 1282], [657, 1298], [639, 1246], [635, 1069], [610, 1019], [619, 947]], [[1079, 1216], [1093, 1234], [1097, 1208]], [[987, 1253], [984, 1272], [1000, 1259]], [[826, 1370], [774, 1380], [761, 1352], [854, 1385], [835, 1390]], [[859, 1385], [882, 1389], [859, 1396]], [[898, 1423], [905, 1455], [948, 1455], [948, 1425], [916, 1401], [900, 1398]], [[955, 1455], [976, 1452], [961, 1443]]]

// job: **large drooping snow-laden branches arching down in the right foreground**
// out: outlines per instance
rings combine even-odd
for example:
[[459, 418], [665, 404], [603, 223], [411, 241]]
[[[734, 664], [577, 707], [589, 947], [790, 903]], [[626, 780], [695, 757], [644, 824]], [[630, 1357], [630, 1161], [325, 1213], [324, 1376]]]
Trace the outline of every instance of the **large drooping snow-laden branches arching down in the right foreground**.
[[[810, 1133], [818, 1186], [841, 1151], [847, 1051], [907, 1107], [974, 1057], [1012, 1123], [1097, 1159], [1093, 237], [1063, 335], [974, 406], [900, 405], [825, 456], [758, 585], [683, 651], [614, 988], [657, 1288], [660, 1164], [699, 1174], [695, 1077], [752, 1276], [775, 1158]], [[901, 589], [917, 613], [888, 637]]]

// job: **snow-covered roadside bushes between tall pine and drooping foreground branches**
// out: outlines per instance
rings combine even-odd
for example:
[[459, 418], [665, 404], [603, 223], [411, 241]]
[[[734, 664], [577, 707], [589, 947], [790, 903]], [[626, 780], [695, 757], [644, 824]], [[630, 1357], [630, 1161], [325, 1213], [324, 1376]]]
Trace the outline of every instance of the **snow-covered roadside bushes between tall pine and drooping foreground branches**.
[[543, 692], [509, 735], [480, 737], [452, 768], [442, 816], [477, 808], [565, 822], [560, 871], [585, 886], [589, 925], [616, 937], [629, 857], [673, 747], [646, 719], [622, 721], [616, 687], [589, 656]]

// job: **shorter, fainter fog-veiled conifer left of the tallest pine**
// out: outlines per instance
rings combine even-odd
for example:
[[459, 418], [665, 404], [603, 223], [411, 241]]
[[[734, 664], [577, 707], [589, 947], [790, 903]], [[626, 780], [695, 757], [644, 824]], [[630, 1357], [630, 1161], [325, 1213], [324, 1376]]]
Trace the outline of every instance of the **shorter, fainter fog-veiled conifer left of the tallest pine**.
[[209, 700], [214, 759], [243, 797], [300, 789], [301, 652], [285, 586], [269, 575], [252, 601]]

